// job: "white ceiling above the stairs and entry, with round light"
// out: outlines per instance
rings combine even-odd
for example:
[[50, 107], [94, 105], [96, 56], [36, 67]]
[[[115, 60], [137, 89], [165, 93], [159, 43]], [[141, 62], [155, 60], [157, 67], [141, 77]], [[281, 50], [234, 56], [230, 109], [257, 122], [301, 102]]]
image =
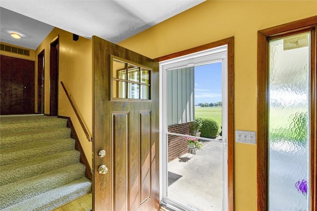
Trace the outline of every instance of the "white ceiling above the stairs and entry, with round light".
[[[205, 0], [0, 0], [0, 41], [36, 49], [52, 31], [120, 42]], [[11, 32], [21, 35], [12, 39]]]

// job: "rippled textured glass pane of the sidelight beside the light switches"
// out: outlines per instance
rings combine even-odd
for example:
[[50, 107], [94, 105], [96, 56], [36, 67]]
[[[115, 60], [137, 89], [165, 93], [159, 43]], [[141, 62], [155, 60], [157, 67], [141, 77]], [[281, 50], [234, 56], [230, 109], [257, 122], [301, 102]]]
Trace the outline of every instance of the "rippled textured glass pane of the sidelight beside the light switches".
[[[309, 40], [310, 34], [305, 35]], [[310, 46], [301, 46], [298, 36], [287, 39], [294, 39], [293, 48], [284, 50], [283, 39], [269, 42], [268, 204], [271, 211], [306, 211], [310, 199]]]

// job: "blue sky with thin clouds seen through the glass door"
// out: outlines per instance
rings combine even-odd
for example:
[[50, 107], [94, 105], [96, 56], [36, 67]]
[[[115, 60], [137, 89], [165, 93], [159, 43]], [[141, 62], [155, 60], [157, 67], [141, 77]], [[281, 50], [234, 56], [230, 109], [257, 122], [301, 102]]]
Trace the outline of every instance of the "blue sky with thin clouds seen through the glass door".
[[221, 62], [195, 67], [195, 105], [221, 100]]

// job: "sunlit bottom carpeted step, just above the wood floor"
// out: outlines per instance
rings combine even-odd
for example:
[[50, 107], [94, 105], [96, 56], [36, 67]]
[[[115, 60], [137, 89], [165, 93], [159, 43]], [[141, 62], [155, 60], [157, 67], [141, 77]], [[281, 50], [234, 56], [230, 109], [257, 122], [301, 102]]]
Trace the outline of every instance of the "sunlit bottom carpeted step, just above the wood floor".
[[55, 188], [41, 195], [29, 198], [18, 204], [3, 209], [3, 211], [32, 210], [51, 211], [78, 197], [91, 192], [91, 181], [86, 177]]

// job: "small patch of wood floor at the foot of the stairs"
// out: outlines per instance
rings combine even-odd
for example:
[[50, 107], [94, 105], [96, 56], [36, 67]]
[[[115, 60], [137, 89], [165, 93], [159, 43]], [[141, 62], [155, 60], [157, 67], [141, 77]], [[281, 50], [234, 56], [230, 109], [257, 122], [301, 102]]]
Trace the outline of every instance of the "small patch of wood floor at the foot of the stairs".
[[92, 194], [89, 193], [53, 211], [91, 211], [92, 203]]

